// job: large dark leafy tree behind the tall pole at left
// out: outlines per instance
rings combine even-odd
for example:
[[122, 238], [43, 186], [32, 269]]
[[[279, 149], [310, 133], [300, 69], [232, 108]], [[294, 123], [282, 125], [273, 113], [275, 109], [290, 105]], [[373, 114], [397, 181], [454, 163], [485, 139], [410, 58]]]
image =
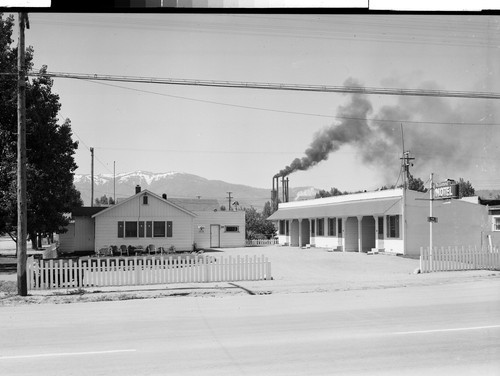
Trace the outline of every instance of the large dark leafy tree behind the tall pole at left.
[[[11, 47], [12, 16], [0, 14], [0, 71], [17, 72], [17, 48]], [[26, 51], [32, 69], [33, 49]], [[53, 81], [43, 76], [26, 80], [26, 148], [28, 234], [37, 248], [37, 236], [59, 231], [68, 224], [64, 216], [83, 201], [73, 184], [78, 143], [71, 138], [71, 122], [58, 124], [59, 96]], [[17, 82], [16, 75], [0, 77], [0, 233], [13, 235], [17, 228]]]

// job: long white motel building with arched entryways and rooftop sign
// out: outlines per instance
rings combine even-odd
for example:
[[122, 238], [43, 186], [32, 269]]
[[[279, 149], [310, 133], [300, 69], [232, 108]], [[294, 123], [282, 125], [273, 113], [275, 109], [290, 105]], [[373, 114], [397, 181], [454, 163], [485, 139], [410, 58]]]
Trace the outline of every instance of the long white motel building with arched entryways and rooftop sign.
[[416, 257], [429, 247], [431, 227], [434, 247], [483, 246], [492, 233], [488, 207], [452, 193], [443, 184], [432, 201], [429, 193], [399, 188], [285, 202], [268, 220], [279, 244], [290, 247]]

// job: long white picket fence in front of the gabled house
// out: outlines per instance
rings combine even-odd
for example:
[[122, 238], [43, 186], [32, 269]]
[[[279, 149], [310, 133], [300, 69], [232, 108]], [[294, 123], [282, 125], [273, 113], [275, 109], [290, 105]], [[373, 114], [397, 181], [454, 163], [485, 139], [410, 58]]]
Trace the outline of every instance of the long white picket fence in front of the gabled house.
[[28, 289], [271, 279], [264, 256], [86, 257], [27, 262]]

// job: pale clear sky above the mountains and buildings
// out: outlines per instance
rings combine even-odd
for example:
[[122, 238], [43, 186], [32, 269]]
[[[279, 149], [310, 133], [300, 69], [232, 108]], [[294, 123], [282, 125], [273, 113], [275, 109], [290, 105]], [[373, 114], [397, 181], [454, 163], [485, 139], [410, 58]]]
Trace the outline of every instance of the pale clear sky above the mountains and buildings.
[[[100, 75], [500, 92], [500, 17], [31, 13], [34, 68]], [[17, 37], [16, 37], [17, 38]], [[258, 188], [311, 145], [290, 186], [373, 190], [460, 177], [500, 188], [498, 100], [55, 78], [78, 174], [185, 172]], [[325, 137], [327, 140], [325, 141]], [[318, 141], [319, 140], [319, 141]], [[321, 141], [322, 140], [322, 141]], [[321, 142], [320, 142], [321, 141]], [[324, 142], [323, 142], [324, 141]], [[314, 149], [313, 147], [313, 149]], [[314, 153], [313, 153], [314, 154]]]

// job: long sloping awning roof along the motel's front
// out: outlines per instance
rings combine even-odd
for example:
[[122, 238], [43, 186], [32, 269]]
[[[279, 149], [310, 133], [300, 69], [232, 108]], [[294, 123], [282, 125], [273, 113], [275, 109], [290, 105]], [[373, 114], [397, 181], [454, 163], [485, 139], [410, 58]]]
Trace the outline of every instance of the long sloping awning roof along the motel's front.
[[282, 208], [268, 220], [401, 214], [401, 197]]

